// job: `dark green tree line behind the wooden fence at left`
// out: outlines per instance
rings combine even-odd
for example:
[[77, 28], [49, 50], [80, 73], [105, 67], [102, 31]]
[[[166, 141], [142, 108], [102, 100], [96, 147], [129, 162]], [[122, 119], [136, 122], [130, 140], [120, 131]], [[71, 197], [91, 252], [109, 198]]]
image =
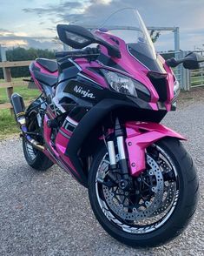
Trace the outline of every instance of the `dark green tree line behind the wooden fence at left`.
[[[13, 48], [6, 51], [6, 58], [8, 61], [23, 61], [23, 60], [34, 60], [37, 57], [45, 57], [54, 59], [55, 51], [50, 51], [48, 49], [24, 49], [22, 47]], [[1, 56], [0, 56], [0, 61]], [[15, 67], [11, 68], [12, 77], [30, 77], [29, 67]], [[0, 69], [0, 78], [3, 78], [3, 69]]]

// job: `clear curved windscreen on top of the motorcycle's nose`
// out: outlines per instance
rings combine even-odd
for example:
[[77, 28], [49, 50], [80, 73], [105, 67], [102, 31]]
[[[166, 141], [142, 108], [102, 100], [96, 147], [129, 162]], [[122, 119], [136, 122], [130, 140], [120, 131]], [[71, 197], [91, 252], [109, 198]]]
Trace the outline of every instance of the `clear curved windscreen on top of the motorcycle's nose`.
[[157, 58], [148, 29], [137, 10], [124, 8], [115, 11], [100, 27], [122, 38], [127, 44], [129, 54], [146, 66], [149, 71], [166, 72]]

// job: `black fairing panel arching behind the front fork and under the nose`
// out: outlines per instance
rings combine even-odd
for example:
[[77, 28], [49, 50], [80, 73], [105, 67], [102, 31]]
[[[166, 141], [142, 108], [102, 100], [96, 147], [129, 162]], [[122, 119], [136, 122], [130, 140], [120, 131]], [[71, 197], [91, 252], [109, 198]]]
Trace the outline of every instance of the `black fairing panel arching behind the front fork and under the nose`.
[[[127, 102], [127, 100], [125, 101], [113, 98], [105, 98], [102, 99], [102, 101], [100, 101], [98, 104], [95, 104], [83, 116], [79, 124], [76, 126], [65, 152], [65, 155], [69, 157], [76, 170], [80, 170], [80, 173], [84, 173], [84, 177], [86, 176], [85, 173], [87, 172], [87, 170], [83, 170], [82, 164], [78, 157], [78, 152], [80, 149], [87, 147], [87, 145], [84, 145], [84, 143], [87, 142], [87, 138], [91, 137], [95, 129], [99, 128], [102, 120], [106, 118], [110, 112], [114, 111], [116, 115], [120, 116], [120, 118], [123, 118], [124, 121], [128, 120], [128, 118], [130, 118], [129, 120], [136, 120], [137, 118], [143, 118], [145, 120], [144, 111], [142, 111], [141, 114], [137, 115], [137, 108], [135, 107], [135, 104]], [[149, 119], [153, 121], [153, 112], [155, 112], [154, 121], [158, 122], [166, 114], [166, 111], [148, 110], [147, 120]], [[120, 115], [118, 115], [117, 113], [120, 113]], [[83, 184], [86, 184], [86, 182], [87, 179], [84, 178]]]

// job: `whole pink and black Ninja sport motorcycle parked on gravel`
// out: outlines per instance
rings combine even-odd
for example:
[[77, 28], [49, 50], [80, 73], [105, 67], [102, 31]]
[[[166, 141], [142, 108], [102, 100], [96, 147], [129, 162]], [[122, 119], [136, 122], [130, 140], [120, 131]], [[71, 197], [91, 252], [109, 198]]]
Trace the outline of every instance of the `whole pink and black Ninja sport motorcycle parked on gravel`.
[[[120, 20], [129, 13], [135, 20], [126, 33]], [[116, 12], [99, 29], [58, 24], [57, 32], [76, 51], [30, 64], [42, 93], [27, 109], [20, 95], [11, 98], [26, 161], [70, 172], [89, 189], [96, 219], [122, 243], [174, 239], [194, 214], [199, 185], [185, 138], [160, 122], [180, 91], [170, 67], [196, 69], [204, 58], [165, 61], [136, 10]]]

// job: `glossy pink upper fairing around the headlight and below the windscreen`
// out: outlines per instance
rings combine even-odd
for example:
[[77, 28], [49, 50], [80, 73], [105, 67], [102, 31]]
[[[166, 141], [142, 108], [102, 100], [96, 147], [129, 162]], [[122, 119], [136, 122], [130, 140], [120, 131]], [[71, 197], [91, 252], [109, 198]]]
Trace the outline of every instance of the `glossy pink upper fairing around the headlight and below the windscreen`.
[[[115, 38], [116, 41], [119, 42], [119, 49], [121, 51], [121, 58], [117, 58], [117, 57], [111, 57], [112, 60], [115, 62], [115, 64], [120, 65], [126, 72], [123, 71], [118, 71], [117, 72], [121, 72], [125, 75], [128, 75], [129, 77], [133, 77], [135, 78], [137, 81], [141, 82], [141, 84], [145, 84], [145, 86], [147, 86], [148, 90], [151, 93], [151, 101], [149, 103], [149, 105], [151, 106], [151, 108], [154, 111], [158, 111], [158, 106], [157, 106], [157, 101], [159, 99], [159, 95], [157, 93], [157, 91], [155, 90], [155, 87], [153, 86], [153, 84], [151, 83], [151, 81], [148, 78], [148, 68], [146, 66], [144, 66], [143, 64], [141, 64], [139, 61], [137, 61], [135, 59], [135, 57], [132, 57], [127, 50], [127, 45], [126, 43], [119, 37], [115, 37], [107, 32], [102, 32], [100, 30], [95, 30], [94, 34], [96, 37], [100, 37], [102, 38], [102, 40], [108, 42], [111, 45], [114, 45], [115, 47], [118, 47], [118, 44], [116, 44], [111, 38]], [[101, 51], [102, 54], [104, 54], [105, 56], [109, 57], [108, 51], [104, 46], [101, 46]], [[167, 108], [167, 111], [171, 110], [171, 101], [174, 98], [174, 74], [172, 72], [172, 70], [168, 67], [167, 64], [165, 64], [165, 60], [163, 59], [163, 57], [161, 57], [160, 55], [158, 55], [158, 59], [160, 60], [161, 64], [163, 65], [163, 68], [165, 69], [165, 71], [167, 71], [167, 88], [168, 88], [168, 99], [165, 102], [165, 106]], [[88, 77], [91, 76], [95, 76], [96, 81], [98, 82], [98, 84], [102, 84], [102, 86], [105, 88], [108, 86], [108, 84], [106, 83], [105, 79], [102, 80], [102, 77], [95, 74], [93, 75], [93, 72], [90, 72], [87, 68], [88, 67], [95, 67], [95, 68], [106, 68], [109, 69], [110, 71], [113, 70], [115, 71], [114, 68], [106, 66], [102, 63], [97, 64], [97, 63], [93, 63], [93, 64], [89, 64], [87, 61], [85, 61], [85, 59], [80, 59], [77, 61], [77, 64], [79, 64], [82, 67], [82, 72], [86, 73], [88, 75]], [[98, 79], [98, 80], [97, 80]]]

